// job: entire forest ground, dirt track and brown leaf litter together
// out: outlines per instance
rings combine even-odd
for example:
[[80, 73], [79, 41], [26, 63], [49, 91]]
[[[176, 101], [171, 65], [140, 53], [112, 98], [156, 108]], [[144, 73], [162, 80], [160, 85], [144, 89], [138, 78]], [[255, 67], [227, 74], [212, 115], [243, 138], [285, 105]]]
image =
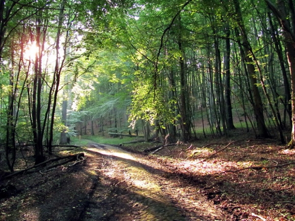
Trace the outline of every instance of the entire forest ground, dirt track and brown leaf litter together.
[[0, 221], [295, 221], [295, 150], [234, 138], [89, 142], [85, 161], [2, 178]]

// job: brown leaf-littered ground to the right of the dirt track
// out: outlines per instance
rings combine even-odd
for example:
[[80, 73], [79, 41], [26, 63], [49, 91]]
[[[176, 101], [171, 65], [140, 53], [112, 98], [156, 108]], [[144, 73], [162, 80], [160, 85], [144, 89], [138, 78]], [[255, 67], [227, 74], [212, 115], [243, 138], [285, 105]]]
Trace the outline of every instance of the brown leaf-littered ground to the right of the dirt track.
[[295, 150], [275, 140], [245, 139], [226, 147], [232, 141], [202, 147], [198, 140], [193, 148], [167, 147], [149, 158], [188, 180], [231, 220], [294, 221], [295, 164], [280, 165], [295, 162]]

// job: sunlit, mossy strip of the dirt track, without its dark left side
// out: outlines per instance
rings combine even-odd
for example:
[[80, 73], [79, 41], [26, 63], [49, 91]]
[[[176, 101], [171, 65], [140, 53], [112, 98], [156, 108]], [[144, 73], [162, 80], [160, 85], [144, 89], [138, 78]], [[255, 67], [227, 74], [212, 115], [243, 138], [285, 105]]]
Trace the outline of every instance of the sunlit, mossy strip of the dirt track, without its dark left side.
[[109, 146], [91, 151], [117, 160], [112, 161], [112, 166], [108, 165], [103, 174], [118, 179], [118, 185], [124, 183], [129, 196], [134, 195], [136, 207], [142, 206], [137, 214], [139, 220], [225, 220], [198, 190], [178, 178], [166, 178], [157, 161]]

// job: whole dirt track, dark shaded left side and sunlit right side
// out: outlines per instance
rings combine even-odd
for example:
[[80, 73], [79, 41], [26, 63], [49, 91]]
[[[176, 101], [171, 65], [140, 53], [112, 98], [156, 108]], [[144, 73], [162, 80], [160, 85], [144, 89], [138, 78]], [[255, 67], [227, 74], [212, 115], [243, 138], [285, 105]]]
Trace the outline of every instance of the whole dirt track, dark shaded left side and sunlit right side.
[[17, 176], [0, 200], [0, 221], [221, 221], [196, 187], [157, 157], [89, 143], [87, 160], [46, 173]]

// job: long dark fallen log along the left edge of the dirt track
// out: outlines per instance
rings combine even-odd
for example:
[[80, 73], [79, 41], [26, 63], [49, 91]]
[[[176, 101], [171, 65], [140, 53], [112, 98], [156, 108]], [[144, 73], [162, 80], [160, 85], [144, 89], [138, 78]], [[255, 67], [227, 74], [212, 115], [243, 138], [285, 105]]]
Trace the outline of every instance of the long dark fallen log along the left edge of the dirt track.
[[[59, 160], [68, 159], [68, 160], [66, 160], [66, 161], [64, 161], [64, 162], [62, 162], [62, 163], [59, 163], [59, 164], [57, 164], [57, 165], [52, 165], [52, 166], [49, 166], [49, 167], [52, 168], [52, 167], [55, 167], [55, 166], [60, 166], [60, 165], [62, 165], [62, 164], [66, 164], [66, 163], [68, 163], [68, 162], [71, 162], [71, 161], [74, 161], [74, 160], [78, 160], [80, 157], [84, 157], [84, 153], [71, 154], [71, 155], [67, 155], [67, 156], [63, 156], [63, 157], [57, 157], [57, 158], [49, 159], [49, 160], [44, 161], [44, 162], [42, 162], [42, 163], [40, 163], [40, 164], [37, 164], [37, 165], [34, 165], [34, 166], [30, 166], [30, 167], [28, 167], [28, 168], [26, 168], [26, 169], [22, 169], [22, 170], [18, 170], [18, 171], [16, 171], [16, 172], [13, 172], [13, 173], [11, 173], [11, 174], [5, 176], [4, 178], [9, 178], [9, 177], [12, 177], [12, 176], [18, 175], [18, 174], [20, 174], [20, 173], [28, 172], [28, 171], [31, 170], [31, 169], [37, 168], [37, 167], [39, 167], [39, 166], [45, 166], [46, 164], [51, 163], [51, 162], [55, 162], [55, 161], [59, 161]], [[40, 170], [44, 170], [44, 168], [35, 169], [35, 170], [33, 170], [32, 172], [37, 172], [37, 171], [40, 171]]]

